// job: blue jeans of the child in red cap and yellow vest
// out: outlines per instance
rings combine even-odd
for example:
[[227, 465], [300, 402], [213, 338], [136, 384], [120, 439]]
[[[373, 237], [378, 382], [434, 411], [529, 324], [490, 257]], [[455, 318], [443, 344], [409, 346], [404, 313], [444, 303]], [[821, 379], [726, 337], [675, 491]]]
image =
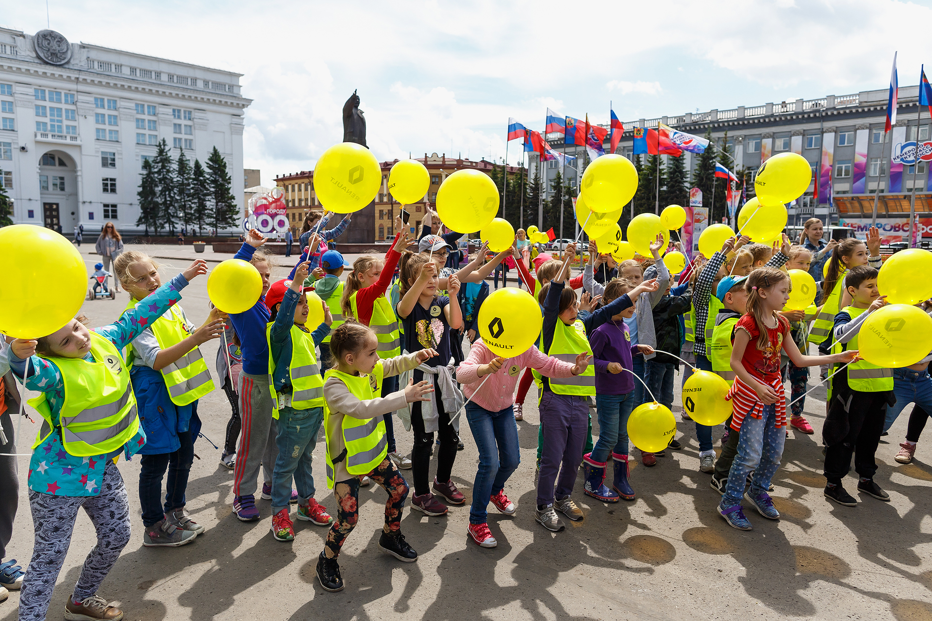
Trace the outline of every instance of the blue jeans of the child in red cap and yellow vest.
[[314, 475], [310, 466], [322, 420], [323, 408], [295, 410], [285, 406], [279, 411], [279, 433], [275, 439], [279, 455], [272, 472], [272, 515], [291, 502], [293, 476], [298, 502], [307, 505], [314, 497]]

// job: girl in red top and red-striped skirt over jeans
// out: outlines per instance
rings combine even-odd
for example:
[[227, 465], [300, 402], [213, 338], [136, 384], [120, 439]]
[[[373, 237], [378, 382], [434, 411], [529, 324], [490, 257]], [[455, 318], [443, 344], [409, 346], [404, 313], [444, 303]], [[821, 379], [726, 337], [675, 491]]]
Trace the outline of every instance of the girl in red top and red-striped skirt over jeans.
[[[780, 350], [797, 367], [817, 367], [847, 363], [857, 351], [831, 356], [803, 356], [789, 335], [789, 322], [778, 314], [789, 299], [791, 283], [785, 272], [759, 267], [745, 281], [747, 314], [732, 332], [734, 384], [726, 398], [732, 399], [732, 428], [741, 433], [738, 452], [728, 473], [728, 485], [721, 497], [719, 513], [736, 529], [751, 530], [741, 507], [742, 495], [764, 517], [778, 520], [767, 490], [780, 466], [786, 439], [787, 401], [780, 377]], [[754, 472], [750, 490], [745, 493], [748, 472]]]

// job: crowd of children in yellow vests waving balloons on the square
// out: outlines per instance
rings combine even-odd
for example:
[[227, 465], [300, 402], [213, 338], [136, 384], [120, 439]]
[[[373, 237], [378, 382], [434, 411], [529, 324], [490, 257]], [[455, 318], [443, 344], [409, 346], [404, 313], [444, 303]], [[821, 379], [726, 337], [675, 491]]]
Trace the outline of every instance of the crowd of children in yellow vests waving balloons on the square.
[[[396, 226], [403, 231], [400, 220]], [[497, 545], [488, 504], [507, 516], [517, 510], [505, 484], [520, 462], [516, 421], [533, 383], [540, 412], [534, 516], [549, 531], [565, 528], [557, 513], [584, 518], [572, 499], [581, 466], [586, 495], [604, 503], [635, 500], [628, 417], [653, 400], [675, 409], [676, 374], [681, 370], [685, 379], [690, 368], [716, 372], [731, 385], [733, 415], [718, 458], [713, 428], [694, 423], [699, 469], [711, 475], [728, 524], [752, 528], [743, 500], [761, 516], [779, 518], [772, 479], [788, 427], [814, 431], [802, 416], [813, 366], [826, 370], [829, 384], [822, 428], [825, 496], [843, 506], [857, 504], [843, 487], [854, 458], [857, 492], [889, 501], [874, 480], [874, 453], [912, 402], [916, 407], [896, 457], [911, 461], [926, 412], [932, 412], [932, 355], [903, 369], [880, 369], [857, 357], [864, 319], [885, 304], [877, 290], [880, 236], [871, 229], [866, 243], [826, 244], [821, 230], [818, 221], [806, 223], [802, 245], [791, 245], [787, 236], [772, 247], [749, 244], [746, 236], [729, 239], [711, 257], [691, 263], [678, 282], [665, 265], [661, 236], [651, 243], [652, 257], [637, 261], [615, 264], [594, 249], [575, 278], [570, 268], [579, 255], [569, 244], [562, 257], [534, 257], [532, 277], [522, 256], [523, 236], [495, 256], [483, 247], [456, 268], [447, 262], [447, 240], [432, 235], [430, 225], [417, 240], [418, 251], [408, 249], [414, 241], [401, 232], [384, 257], [363, 256], [351, 267], [336, 250], [320, 251], [326, 236], [315, 231], [289, 277], [271, 282], [271, 263], [260, 250], [266, 239], [253, 230], [236, 258], [254, 265], [262, 295], [242, 313], [226, 316], [212, 308], [199, 327], [178, 303], [189, 281], [206, 273], [206, 263], [195, 261], [163, 284], [155, 261], [123, 252], [113, 269], [130, 303], [116, 322], [89, 330], [79, 316], [53, 334], [4, 345], [0, 414], [16, 403], [10, 385], [15, 376], [40, 392], [30, 404], [43, 425], [29, 466], [33, 559], [25, 571], [15, 560], [0, 563], [0, 596], [5, 588], [21, 588], [20, 618], [45, 618], [83, 507], [98, 543], [65, 618], [122, 618], [97, 595], [130, 541], [128, 494], [117, 459], [141, 455], [143, 545], [191, 543], [204, 530], [185, 511], [198, 403], [218, 383], [232, 409], [221, 463], [234, 471], [234, 514], [242, 521], [260, 519], [255, 493], [261, 467], [261, 497], [271, 501], [276, 540], [295, 538], [293, 504], [297, 520], [329, 527], [317, 561], [318, 579], [329, 591], [344, 587], [337, 559], [359, 518], [360, 486], [374, 481], [388, 493], [378, 547], [406, 562], [418, 553], [401, 533], [409, 494], [403, 469], [413, 478], [412, 509], [441, 516], [466, 503], [452, 478], [462, 448], [462, 412], [479, 452], [468, 534], [481, 547]], [[504, 261], [517, 268], [543, 318], [537, 343], [513, 358], [490, 351], [476, 323], [489, 294], [485, 279]], [[783, 310], [791, 288], [788, 269], [819, 272], [810, 308]], [[223, 344], [214, 378], [199, 345], [218, 338]], [[810, 343], [819, 356], [808, 355]], [[394, 415], [412, 431], [410, 455], [398, 451], [401, 427]], [[687, 412], [682, 415], [689, 420]], [[7, 419], [0, 448], [15, 452]], [[334, 491], [333, 517], [312, 475], [321, 427], [325, 450], [318, 458]], [[681, 445], [670, 439], [668, 448]], [[644, 466], [655, 466], [663, 453], [639, 456]], [[6, 509], [0, 513], [3, 554], [12, 517]]]

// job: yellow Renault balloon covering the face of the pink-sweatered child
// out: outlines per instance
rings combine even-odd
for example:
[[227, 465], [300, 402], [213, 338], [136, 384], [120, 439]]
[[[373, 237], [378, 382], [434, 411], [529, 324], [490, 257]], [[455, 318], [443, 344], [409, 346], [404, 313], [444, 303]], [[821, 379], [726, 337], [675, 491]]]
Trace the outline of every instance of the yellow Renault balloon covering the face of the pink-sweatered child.
[[541, 305], [526, 290], [503, 287], [479, 308], [479, 335], [496, 356], [513, 358], [530, 349], [543, 325]]

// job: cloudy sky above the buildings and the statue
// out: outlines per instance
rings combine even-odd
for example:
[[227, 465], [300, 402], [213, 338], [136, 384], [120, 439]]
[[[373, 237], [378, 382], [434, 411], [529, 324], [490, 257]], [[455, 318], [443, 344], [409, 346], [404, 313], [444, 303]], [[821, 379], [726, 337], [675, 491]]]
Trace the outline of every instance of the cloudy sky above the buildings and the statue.
[[[4, 4], [4, 26], [46, 27], [44, 3]], [[548, 106], [605, 123], [610, 101], [634, 120], [843, 95], [886, 88], [895, 50], [901, 86], [932, 69], [932, 1], [48, 0], [48, 22], [71, 41], [244, 74], [245, 165], [264, 184], [342, 140], [356, 88], [379, 159], [477, 159], [505, 155], [509, 116], [542, 129]]]

